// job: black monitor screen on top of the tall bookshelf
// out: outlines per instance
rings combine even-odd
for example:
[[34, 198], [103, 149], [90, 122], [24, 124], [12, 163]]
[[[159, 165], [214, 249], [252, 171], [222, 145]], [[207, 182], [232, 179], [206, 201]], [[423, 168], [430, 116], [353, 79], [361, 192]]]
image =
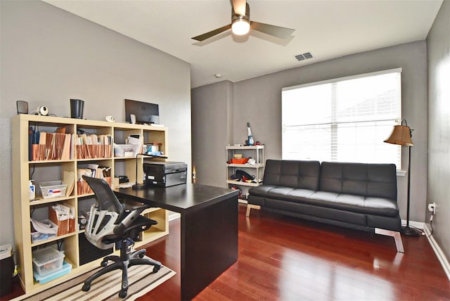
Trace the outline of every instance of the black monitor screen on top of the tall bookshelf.
[[136, 123], [160, 123], [160, 109], [156, 103], [144, 103], [143, 101], [131, 101], [125, 99], [125, 121], [131, 122], [130, 115], [136, 116]]

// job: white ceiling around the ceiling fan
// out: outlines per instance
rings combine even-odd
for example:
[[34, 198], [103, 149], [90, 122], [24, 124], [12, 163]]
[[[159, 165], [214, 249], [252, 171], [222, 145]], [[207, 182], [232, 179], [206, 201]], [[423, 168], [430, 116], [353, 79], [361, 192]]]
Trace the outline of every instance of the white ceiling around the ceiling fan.
[[[248, 0], [250, 20], [295, 29], [280, 40], [260, 32], [191, 37], [231, 23], [229, 0], [44, 0], [191, 63], [191, 87], [300, 67], [423, 40], [442, 0]], [[311, 52], [299, 62], [295, 56]], [[221, 74], [217, 79], [215, 74]]]

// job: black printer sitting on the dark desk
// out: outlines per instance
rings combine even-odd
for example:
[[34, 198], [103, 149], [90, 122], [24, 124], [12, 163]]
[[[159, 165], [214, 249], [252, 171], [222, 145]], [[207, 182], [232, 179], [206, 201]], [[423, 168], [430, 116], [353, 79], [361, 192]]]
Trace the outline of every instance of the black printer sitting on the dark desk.
[[169, 187], [186, 184], [187, 165], [184, 162], [143, 162], [147, 186]]

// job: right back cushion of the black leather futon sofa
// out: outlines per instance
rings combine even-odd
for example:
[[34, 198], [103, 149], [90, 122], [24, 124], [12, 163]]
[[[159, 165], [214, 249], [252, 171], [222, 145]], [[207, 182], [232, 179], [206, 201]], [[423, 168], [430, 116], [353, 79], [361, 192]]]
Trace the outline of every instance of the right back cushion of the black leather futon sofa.
[[320, 191], [397, 200], [393, 164], [322, 162]]

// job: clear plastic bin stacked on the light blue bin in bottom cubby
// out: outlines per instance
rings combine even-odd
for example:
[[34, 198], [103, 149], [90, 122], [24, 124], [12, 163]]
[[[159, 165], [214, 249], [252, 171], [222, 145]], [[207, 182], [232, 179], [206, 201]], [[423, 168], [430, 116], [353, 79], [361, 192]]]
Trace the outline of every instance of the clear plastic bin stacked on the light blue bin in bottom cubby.
[[33, 268], [40, 276], [59, 271], [63, 267], [64, 252], [45, 248], [33, 252]]

